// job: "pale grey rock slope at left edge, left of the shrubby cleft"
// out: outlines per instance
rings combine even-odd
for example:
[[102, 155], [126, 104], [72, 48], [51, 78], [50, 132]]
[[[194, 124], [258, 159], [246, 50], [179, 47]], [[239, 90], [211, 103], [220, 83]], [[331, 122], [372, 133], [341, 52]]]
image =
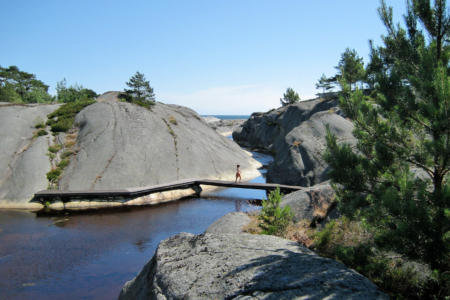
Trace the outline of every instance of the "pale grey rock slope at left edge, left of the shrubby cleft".
[[47, 153], [53, 137], [35, 137], [36, 119], [44, 122], [56, 105], [0, 105], [0, 208], [39, 208], [29, 203], [48, 185]]

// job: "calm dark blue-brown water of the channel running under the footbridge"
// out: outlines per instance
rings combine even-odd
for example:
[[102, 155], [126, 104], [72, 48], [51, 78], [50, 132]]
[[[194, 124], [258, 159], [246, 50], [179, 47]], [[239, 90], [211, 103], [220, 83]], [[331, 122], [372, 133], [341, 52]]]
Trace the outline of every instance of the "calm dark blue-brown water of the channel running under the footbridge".
[[[271, 161], [254, 157], [264, 165]], [[226, 213], [258, 209], [247, 201], [263, 197], [264, 191], [222, 188], [154, 206], [0, 210], [0, 299], [117, 299], [161, 240], [202, 233]]]

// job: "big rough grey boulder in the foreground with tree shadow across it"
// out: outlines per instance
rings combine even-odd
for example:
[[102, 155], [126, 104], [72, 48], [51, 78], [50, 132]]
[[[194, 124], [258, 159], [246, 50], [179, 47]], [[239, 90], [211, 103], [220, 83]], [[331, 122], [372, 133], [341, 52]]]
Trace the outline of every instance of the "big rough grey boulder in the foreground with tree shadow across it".
[[388, 299], [368, 279], [297, 243], [181, 233], [160, 243], [119, 299]]

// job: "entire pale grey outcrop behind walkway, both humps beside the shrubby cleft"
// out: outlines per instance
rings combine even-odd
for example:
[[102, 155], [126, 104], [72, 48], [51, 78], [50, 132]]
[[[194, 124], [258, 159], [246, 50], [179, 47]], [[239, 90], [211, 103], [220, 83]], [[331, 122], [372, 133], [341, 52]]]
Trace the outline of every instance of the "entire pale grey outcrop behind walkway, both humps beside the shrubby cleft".
[[[76, 116], [78, 132], [68, 135], [73, 138], [69, 141], [73, 155], [68, 158], [59, 189], [132, 188], [188, 178], [234, 180], [237, 164], [241, 164], [244, 180], [260, 175], [260, 163], [215, 132], [191, 109], [157, 103], [149, 110], [114, 101], [117, 95], [110, 94], [99, 97], [101, 102]], [[0, 207], [35, 207], [37, 204], [30, 203], [33, 194], [47, 188], [46, 173], [52, 167], [46, 155], [48, 148], [53, 140], [64, 144], [65, 136], [33, 138], [34, 123], [37, 116], [45, 121], [57, 107], [0, 107], [0, 128], [4, 132], [0, 144]], [[67, 148], [60, 151], [62, 154]], [[127, 199], [127, 204], [157, 203], [193, 193], [169, 191]], [[66, 207], [101, 205], [122, 203], [77, 200]]]

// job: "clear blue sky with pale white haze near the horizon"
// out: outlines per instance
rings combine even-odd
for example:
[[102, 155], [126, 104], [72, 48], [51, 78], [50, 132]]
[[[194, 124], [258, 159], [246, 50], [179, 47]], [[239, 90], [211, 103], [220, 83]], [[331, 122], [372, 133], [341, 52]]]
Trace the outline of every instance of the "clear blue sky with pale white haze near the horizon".
[[[403, 24], [405, 0], [387, 0]], [[0, 65], [50, 85], [123, 90], [139, 71], [156, 100], [202, 115], [314, 98], [347, 47], [368, 62], [385, 34], [378, 0], [0, 0]]]

